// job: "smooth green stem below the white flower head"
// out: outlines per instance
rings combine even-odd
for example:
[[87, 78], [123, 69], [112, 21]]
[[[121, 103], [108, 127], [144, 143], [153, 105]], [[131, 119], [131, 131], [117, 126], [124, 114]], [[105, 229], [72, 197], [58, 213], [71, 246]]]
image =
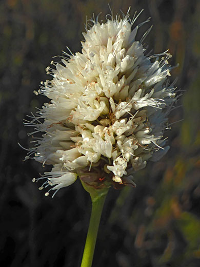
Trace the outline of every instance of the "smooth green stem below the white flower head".
[[92, 199], [92, 212], [81, 267], [92, 266], [98, 226], [107, 193], [108, 190], [102, 192], [102, 194], [99, 194], [98, 196], [93, 196], [92, 194], [90, 194]]

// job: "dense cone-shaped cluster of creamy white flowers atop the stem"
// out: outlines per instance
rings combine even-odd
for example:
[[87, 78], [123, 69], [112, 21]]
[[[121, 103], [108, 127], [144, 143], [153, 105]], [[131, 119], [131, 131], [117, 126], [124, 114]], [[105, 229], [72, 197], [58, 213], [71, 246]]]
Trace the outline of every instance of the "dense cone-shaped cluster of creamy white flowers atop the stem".
[[58, 190], [77, 177], [96, 188], [134, 186], [132, 174], [167, 152], [163, 132], [176, 100], [167, 80], [171, 55], [146, 55], [142, 42], [148, 32], [136, 41], [143, 23], [132, 30], [135, 20], [127, 13], [93, 22], [83, 33], [82, 53], [47, 67], [53, 79], [35, 93], [51, 101], [27, 123], [44, 132], [29, 155], [53, 165], [39, 178], [46, 179], [41, 189]]

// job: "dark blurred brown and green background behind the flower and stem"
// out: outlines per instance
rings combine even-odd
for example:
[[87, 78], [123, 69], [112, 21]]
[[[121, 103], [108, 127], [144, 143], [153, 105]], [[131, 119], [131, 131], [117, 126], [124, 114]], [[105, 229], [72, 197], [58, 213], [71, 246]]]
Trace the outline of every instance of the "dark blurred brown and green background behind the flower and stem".
[[[199, 227], [200, 2], [189, 0], [2, 0], [0, 2], [0, 262], [7, 267], [81, 264], [90, 217], [90, 198], [79, 181], [52, 199], [32, 178], [41, 164], [23, 161], [31, 131], [23, 119], [49, 100], [33, 91], [49, 79], [45, 68], [68, 46], [81, 51], [86, 16], [144, 12], [137, 40], [153, 24], [145, 43], [173, 55], [171, 81], [183, 96], [166, 132], [171, 149], [135, 175], [137, 187], [111, 189], [107, 197], [93, 266], [197, 267]], [[181, 122], [177, 122], [182, 120]], [[175, 123], [177, 122], [177, 123]], [[38, 185], [38, 186], [37, 186]]]

